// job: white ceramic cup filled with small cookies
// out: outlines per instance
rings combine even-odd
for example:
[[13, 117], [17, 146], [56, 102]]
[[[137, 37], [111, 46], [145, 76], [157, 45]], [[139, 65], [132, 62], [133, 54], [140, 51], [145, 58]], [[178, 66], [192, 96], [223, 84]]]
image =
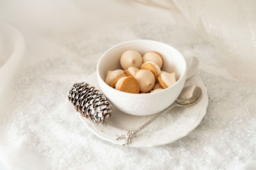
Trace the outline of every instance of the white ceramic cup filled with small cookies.
[[[148, 94], [130, 94], [109, 87], [104, 81], [107, 70], [122, 69], [120, 57], [127, 50], [136, 50], [141, 55], [149, 51], [161, 53], [164, 60], [161, 70], [168, 73], [175, 71], [177, 82], [167, 89]], [[186, 62], [180, 52], [165, 43], [145, 39], [126, 41], [109, 48], [100, 57], [97, 64], [97, 80], [104, 95], [118, 110], [131, 115], [152, 115], [170, 106], [179, 96], [186, 80]]]

